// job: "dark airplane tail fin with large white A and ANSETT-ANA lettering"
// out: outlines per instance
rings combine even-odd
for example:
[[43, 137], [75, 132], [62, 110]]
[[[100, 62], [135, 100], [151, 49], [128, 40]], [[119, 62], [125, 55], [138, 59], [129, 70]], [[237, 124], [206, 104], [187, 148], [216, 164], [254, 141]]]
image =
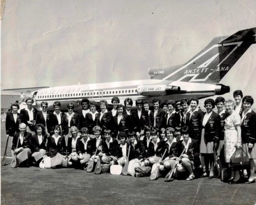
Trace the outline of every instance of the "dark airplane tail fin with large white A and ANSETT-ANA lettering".
[[214, 38], [202, 51], [180, 66], [150, 68], [152, 79], [219, 83], [247, 49], [256, 43], [256, 27]]

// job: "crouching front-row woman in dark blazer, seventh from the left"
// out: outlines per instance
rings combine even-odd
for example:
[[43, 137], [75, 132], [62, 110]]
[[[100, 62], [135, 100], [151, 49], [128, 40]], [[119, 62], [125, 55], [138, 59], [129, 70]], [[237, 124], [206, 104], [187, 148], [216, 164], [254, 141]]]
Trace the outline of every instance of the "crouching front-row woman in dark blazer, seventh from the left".
[[110, 129], [104, 130], [104, 138], [105, 139], [102, 140], [102, 152], [100, 152], [98, 155], [100, 157], [100, 160], [109, 161], [110, 165], [112, 165], [112, 164], [114, 164], [114, 161], [117, 161], [118, 142], [116, 139], [111, 137], [110, 134], [111, 134]]

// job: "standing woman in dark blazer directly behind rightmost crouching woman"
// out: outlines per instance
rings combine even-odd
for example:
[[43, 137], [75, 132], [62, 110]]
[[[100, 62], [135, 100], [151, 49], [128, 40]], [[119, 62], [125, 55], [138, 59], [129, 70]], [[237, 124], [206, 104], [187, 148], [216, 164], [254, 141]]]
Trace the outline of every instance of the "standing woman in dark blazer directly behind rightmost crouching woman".
[[189, 127], [190, 137], [197, 141], [198, 145], [200, 144], [201, 136], [201, 118], [203, 111], [198, 108], [198, 99], [192, 98], [190, 100], [191, 110], [187, 113], [186, 125]]

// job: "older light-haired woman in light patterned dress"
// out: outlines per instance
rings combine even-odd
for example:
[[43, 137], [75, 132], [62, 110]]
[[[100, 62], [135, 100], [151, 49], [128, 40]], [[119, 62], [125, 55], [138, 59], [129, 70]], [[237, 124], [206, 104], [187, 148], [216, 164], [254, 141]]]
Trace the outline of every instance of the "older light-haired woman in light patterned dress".
[[[225, 119], [224, 131], [224, 155], [225, 162], [230, 163], [230, 158], [237, 148], [241, 147], [241, 117], [234, 110], [235, 102], [227, 100], [224, 103], [228, 116]], [[239, 171], [231, 171], [229, 183], [238, 183]]]

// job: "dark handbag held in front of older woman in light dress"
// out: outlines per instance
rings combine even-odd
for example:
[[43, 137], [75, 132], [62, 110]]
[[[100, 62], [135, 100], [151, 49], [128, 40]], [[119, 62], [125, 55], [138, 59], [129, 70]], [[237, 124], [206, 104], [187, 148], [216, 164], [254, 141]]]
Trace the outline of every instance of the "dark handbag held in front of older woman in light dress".
[[232, 171], [239, 171], [250, 168], [250, 159], [246, 153], [246, 156], [236, 157], [236, 154], [238, 152], [241, 153], [241, 150], [245, 153], [242, 148], [238, 148], [230, 158], [230, 167]]

